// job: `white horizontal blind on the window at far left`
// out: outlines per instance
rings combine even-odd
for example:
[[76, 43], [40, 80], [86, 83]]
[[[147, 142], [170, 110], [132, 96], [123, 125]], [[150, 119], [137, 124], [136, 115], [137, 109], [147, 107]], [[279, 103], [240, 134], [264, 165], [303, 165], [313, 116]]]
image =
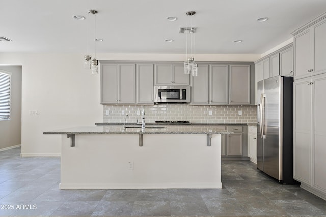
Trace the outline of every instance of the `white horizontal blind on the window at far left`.
[[10, 76], [0, 72], [0, 120], [10, 118]]

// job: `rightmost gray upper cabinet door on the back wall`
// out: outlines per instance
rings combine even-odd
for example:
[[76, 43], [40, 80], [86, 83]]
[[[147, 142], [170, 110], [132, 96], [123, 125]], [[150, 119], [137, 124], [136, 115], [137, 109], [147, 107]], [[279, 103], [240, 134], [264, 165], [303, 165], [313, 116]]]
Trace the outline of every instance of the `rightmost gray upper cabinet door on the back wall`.
[[250, 66], [230, 65], [230, 104], [250, 104]]

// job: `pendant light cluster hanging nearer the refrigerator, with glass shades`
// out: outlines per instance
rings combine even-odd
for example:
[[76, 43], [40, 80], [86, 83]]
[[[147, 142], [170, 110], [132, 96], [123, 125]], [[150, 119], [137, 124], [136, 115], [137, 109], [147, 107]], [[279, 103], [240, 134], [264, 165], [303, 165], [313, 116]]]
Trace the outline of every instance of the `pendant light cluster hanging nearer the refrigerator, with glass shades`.
[[[195, 15], [195, 11], [186, 12], [187, 16]], [[196, 27], [193, 26], [191, 19], [190, 27], [185, 28], [186, 31], [186, 61], [184, 62], [184, 74], [192, 74], [192, 76], [198, 76], [198, 65], [196, 64]], [[190, 41], [188, 40], [188, 34], [190, 35]], [[194, 37], [193, 37], [194, 35]], [[193, 39], [194, 38], [194, 39]], [[188, 45], [190, 44], [190, 52], [188, 57]], [[192, 45], [194, 44], [194, 57], [192, 57]]]

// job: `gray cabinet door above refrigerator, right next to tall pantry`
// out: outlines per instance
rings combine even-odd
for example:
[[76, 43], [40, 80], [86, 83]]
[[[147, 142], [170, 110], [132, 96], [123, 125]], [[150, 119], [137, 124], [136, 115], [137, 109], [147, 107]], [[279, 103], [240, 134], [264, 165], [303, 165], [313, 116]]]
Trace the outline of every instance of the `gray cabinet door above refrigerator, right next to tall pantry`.
[[293, 47], [280, 52], [280, 75], [293, 76]]

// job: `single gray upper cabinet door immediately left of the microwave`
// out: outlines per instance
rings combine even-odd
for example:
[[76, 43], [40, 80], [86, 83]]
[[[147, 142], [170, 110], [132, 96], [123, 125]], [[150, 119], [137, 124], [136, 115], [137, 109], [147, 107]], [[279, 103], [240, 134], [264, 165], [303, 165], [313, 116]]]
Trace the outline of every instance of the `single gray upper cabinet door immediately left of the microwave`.
[[154, 104], [154, 64], [137, 64], [136, 104]]

